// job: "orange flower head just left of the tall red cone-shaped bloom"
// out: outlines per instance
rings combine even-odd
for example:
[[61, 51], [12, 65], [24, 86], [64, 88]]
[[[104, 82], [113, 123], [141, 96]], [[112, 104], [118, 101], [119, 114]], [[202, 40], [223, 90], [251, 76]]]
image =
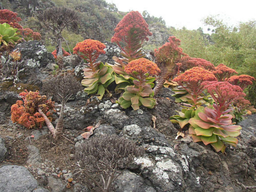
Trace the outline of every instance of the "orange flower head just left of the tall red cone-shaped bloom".
[[97, 40], [85, 39], [76, 44], [73, 48], [73, 53], [79, 55], [89, 63], [94, 63], [100, 54], [106, 53], [104, 51], [105, 48], [106, 45]]

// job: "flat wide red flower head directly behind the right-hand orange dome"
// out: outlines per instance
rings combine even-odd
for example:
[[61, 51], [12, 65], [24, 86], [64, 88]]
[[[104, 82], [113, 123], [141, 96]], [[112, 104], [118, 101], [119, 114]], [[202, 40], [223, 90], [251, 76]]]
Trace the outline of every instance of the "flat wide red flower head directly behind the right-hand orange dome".
[[207, 70], [215, 70], [214, 65], [210, 61], [202, 58], [183, 57], [180, 62], [183, 64], [182, 70], [184, 71], [197, 66]]

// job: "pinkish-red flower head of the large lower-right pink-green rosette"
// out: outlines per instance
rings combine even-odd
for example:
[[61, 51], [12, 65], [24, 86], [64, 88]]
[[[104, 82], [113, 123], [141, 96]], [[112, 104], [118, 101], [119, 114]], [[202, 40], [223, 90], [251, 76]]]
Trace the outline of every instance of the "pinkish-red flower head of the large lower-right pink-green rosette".
[[211, 94], [215, 103], [219, 104], [219, 106], [213, 105], [213, 107], [218, 111], [219, 116], [224, 110], [228, 109], [228, 106], [234, 100], [245, 96], [241, 87], [232, 85], [226, 81], [206, 81], [203, 82], [202, 85], [207, 89], [208, 93]]

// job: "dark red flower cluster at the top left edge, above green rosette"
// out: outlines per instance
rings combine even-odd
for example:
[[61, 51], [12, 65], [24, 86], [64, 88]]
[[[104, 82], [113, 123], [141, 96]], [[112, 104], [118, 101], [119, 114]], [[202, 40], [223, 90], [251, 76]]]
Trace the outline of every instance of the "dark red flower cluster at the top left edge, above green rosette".
[[8, 9], [0, 10], [0, 23], [8, 23], [13, 28], [22, 29], [19, 25], [19, 21], [21, 21], [20, 17], [17, 17], [17, 13], [14, 13]]

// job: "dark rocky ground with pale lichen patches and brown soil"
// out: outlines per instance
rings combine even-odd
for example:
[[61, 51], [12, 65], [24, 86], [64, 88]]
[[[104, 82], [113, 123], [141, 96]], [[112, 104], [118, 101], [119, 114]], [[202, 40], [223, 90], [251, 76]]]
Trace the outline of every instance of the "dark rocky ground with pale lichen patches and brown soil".
[[[19, 99], [17, 92], [28, 85], [40, 89], [54, 69], [52, 56], [40, 43], [33, 41], [19, 46], [26, 56], [19, 76], [19, 83], [23, 84], [0, 83], [1, 191], [99, 191], [74, 160], [75, 148], [84, 142], [80, 134], [99, 121], [100, 126], [90, 138], [117, 134], [146, 151], [117, 178], [111, 191], [255, 191], [256, 115], [240, 123], [243, 129], [237, 147], [228, 146], [224, 154], [216, 153], [210, 146], [193, 143], [186, 129], [180, 130], [169, 121], [180, 107], [173, 102], [168, 88], [161, 90], [154, 109], [141, 107], [136, 111], [120, 108], [115, 104], [115, 95], [99, 101], [81, 91], [65, 106], [63, 135], [57, 141], [47, 127], [24, 129], [12, 123], [10, 106]], [[29, 51], [25, 53], [26, 50]], [[110, 62], [119, 52], [118, 47], [108, 44], [107, 54], [101, 60]], [[79, 63], [79, 59], [66, 58], [65, 68], [75, 68], [79, 77], [80, 68], [75, 67]], [[56, 108], [58, 113], [58, 103]], [[184, 135], [178, 137], [178, 131]]]

